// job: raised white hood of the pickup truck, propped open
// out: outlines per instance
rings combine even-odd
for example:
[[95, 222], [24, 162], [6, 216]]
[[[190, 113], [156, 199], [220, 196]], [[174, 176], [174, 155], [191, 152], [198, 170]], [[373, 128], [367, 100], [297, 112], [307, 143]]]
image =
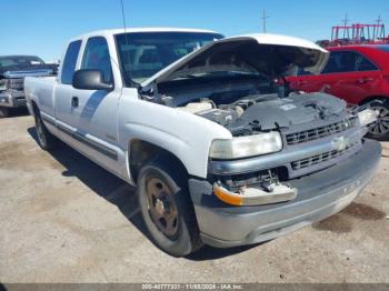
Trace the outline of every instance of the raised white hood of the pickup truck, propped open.
[[275, 77], [296, 66], [316, 74], [323, 69], [328, 58], [328, 51], [303, 39], [267, 33], [232, 37], [187, 54], [142, 82], [141, 87], [217, 71], [260, 72]]

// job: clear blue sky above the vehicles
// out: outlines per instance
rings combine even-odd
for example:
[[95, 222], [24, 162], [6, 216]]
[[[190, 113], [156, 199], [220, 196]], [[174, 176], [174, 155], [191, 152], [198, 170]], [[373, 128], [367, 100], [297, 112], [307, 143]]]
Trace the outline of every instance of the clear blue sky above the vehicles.
[[[389, 26], [388, 0], [123, 0], [128, 27], [211, 29], [225, 36], [262, 31], [316, 41], [329, 39], [331, 27], [373, 23]], [[0, 0], [0, 56], [36, 54], [61, 58], [73, 37], [100, 29], [122, 28], [120, 0]], [[389, 27], [387, 29], [389, 33]]]

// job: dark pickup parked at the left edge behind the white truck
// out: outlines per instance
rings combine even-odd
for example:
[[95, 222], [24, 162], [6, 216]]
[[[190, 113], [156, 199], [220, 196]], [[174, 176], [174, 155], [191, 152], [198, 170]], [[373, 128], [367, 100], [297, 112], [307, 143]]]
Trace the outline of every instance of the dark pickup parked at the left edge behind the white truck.
[[48, 64], [34, 56], [0, 56], [0, 118], [9, 109], [26, 107], [24, 77], [47, 77], [57, 73], [56, 64]]

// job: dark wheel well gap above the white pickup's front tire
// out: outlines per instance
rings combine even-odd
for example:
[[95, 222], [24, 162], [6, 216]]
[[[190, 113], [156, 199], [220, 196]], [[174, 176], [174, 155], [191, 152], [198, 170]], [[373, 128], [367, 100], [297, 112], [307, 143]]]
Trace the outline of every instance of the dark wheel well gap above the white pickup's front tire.
[[161, 158], [167, 167], [174, 167], [180, 173], [188, 174], [187, 168], [181, 160], [170, 151], [143, 140], [132, 140], [129, 144], [129, 170], [136, 182], [143, 165]]

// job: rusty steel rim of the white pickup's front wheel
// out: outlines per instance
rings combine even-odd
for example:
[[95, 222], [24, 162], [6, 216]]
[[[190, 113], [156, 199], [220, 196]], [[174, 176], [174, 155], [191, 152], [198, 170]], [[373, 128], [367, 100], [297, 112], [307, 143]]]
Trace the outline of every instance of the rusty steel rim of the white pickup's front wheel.
[[169, 239], [178, 231], [178, 210], [173, 192], [159, 178], [150, 178], [146, 182], [147, 205], [157, 228]]

